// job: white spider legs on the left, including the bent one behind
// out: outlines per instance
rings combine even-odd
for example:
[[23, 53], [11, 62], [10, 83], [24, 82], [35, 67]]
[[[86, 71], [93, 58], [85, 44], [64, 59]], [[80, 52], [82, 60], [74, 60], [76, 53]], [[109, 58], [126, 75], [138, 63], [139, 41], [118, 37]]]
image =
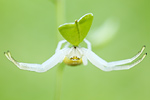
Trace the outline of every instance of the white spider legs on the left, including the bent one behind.
[[14, 63], [20, 69], [35, 71], [35, 72], [45, 72], [45, 71], [51, 69], [52, 67], [54, 67], [59, 62], [63, 61], [63, 59], [68, 51], [68, 48], [63, 48], [60, 50], [61, 45], [64, 42], [66, 42], [66, 41], [59, 42], [58, 46], [57, 46], [57, 50], [56, 50], [57, 52], [51, 58], [49, 58], [47, 61], [45, 61], [42, 64], [30, 64], [30, 63], [17, 62], [11, 56], [9, 51], [5, 52], [4, 54], [12, 63]]

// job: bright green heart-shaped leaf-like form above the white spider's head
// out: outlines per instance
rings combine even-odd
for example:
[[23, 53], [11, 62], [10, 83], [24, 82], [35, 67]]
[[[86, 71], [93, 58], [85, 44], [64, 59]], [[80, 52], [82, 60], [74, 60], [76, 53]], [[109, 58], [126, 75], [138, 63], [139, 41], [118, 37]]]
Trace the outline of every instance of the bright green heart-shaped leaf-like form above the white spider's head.
[[58, 27], [61, 35], [72, 45], [78, 46], [90, 30], [93, 21], [93, 14], [88, 13], [74, 23], [65, 23]]

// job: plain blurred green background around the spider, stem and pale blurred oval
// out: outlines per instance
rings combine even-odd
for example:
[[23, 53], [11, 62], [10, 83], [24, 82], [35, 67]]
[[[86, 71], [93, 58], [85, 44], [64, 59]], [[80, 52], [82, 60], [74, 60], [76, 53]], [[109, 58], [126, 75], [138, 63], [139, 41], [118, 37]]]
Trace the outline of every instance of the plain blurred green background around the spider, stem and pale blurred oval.
[[[51, 57], [57, 46], [55, 9], [50, 0], [0, 0], [0, 100], [53, 100], [58, 66], [45, 73], [20, 70], [3, 52], [10, 50], [18, 61], [29, 63]], [[93, 47], [103, 59], [131, 58], [143, 45], [148, 56], [124, 71], [104, 72], [90, 62], [66, 66], [61, 100], [149, 100], [150, 1], [66, 0], [65, 9], [65, 22], [93, 13], [91, 30], [110, 17], [119, 20], [115, 37], [103, 47]]]

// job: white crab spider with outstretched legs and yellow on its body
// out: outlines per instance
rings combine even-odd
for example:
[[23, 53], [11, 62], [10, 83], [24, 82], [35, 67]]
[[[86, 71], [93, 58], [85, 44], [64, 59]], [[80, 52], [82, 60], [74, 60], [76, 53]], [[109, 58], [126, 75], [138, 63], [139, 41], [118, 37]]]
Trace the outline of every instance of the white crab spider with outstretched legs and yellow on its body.
[[84, 39], [84, 42], [87, 44], [87, 48], [76, 47], [76, 46], [70, 48], [69, 43], [67, 43], [64, 46], [64, 48], [61, 49], [62, 44], [65, 42], [67, 41], [66, 40], [60, 41], [56, 48], [55, 54], [42, 64], [29, 64], [29, 63], [17, 62], [12, 58], [9, 51], [5, 52], [5, 56], [20, 69], [30, 70], [35, 72], [45, 72], [62, 61], [68, 65], [75, 66], [75, 65], [80, 65], [82, 63], [83, 65], [87, 65], [88, 60], [93, 65], [95, 65], [96, 67], [98, 67], [103, 71], [130, 69], [133, 66], [137, 65], [138, 63], [140, 63], [147, 55], [147, 53], [145, 53], [143, 57], [138, 61], [136, 61], [135, 63], [132, 63], [130, 65], [124, 65], [124, 64], [131, 63], [133, 60], [139, 57], [143, 52], [143, 50], [145, 49], [145, 46], [143, 46], [143, 48], [137, 55], [135, 55], [130, 59], [106, 62], [105, 60], [97, 56], [93, 51], [91, 51], [91, 43], [86, 39]]

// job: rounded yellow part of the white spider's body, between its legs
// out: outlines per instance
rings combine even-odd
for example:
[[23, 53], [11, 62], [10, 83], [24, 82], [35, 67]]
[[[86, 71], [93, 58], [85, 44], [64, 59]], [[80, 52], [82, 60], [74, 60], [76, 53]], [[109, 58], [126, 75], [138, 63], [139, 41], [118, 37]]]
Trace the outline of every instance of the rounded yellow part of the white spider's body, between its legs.
[[82, 64], [82, 58], [78, 58], [77, 56], [72, 58], [65, 57], [63, 62], [70, 66], [76, 66]]

